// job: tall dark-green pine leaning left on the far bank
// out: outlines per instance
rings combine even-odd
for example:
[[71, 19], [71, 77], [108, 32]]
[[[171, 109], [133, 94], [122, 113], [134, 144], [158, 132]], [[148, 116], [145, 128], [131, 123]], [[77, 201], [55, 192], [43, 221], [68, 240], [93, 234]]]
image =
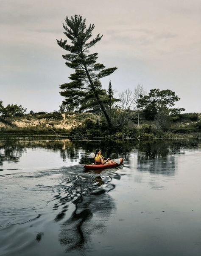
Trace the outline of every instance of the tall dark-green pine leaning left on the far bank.
[[93, 94], [106, 117], [108, 126], [111, 128], [112, 122], [100, 97], [99, 79], [112, 74], [117, 68], [106, 69], [103, 64], [96, 62], [98, 53], [89, 54], [88, 49], [102, 38], [98, 34], [95, 39], [89, 40], [95, 27], [93, 24], [90, 24], [86, 29], [85, 19], [80, 15], [75, 15], [70, 19], [66, 17], [65, 22], [67, 26], [63, 24], [64, 34], [71, 40], [71, 44], [67, 44], [67, 40], [63, 39], [57, 40], [57, 43], [64, 50], [70, 52], [63, 55], [63, 58], [66, 60], [68, 67], [75, 69], [75, 73], [70, 75], [70, 83], [64, 83], [60, 86], [64, 90], [60, 94], [65, 97], [65, 104], [75, 108], [85, 104], [87, 98], [90, 98], [89, 95]]

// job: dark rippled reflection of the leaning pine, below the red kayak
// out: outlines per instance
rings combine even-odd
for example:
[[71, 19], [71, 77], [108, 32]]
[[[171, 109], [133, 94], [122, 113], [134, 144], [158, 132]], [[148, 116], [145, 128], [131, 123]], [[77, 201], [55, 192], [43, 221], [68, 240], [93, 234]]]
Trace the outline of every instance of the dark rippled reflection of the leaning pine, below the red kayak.
[[[96, 175], [67, 175], [65, 193], [59, 191], [54, 196], [56, 202], [53, 207], [53, 210], [62, 207], [55, 221], [63, 220], [59, 229], [59, 242], [66, 252], [86, 246], [96, 230], [105, 231], [104, 220], [108, 221], [112, 211], [116, 209], [112, 197], [105, 193], [115, 188], [111, 181], [109, 176], [103, 178]], [[65, 212], [72, 203], [75, 210], [70, 218], [64, 220]]]

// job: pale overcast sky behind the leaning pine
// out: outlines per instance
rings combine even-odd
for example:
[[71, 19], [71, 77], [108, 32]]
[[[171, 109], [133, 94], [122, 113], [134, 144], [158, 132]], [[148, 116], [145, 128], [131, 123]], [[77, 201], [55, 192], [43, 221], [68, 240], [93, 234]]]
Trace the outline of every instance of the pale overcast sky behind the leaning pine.
[[66, 16], [80, 14], [103, 38], [90, 52], [118, 69], [117, 92], [142, 84], [171, 89], [178, 107], [201, 112], [200, 0], [0, 0], [0, 100], [27, 112], [59, 110], [59, 85], [73, 70], [56, 38], [65, 38]]

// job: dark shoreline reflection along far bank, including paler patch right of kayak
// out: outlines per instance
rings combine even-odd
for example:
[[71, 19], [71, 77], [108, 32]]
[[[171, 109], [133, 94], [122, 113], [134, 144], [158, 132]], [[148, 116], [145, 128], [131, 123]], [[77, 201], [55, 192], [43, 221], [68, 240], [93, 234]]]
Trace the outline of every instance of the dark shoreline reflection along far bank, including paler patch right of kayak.
[[[89, 154], [96, 148], [101, 148], [103, 155], [113, 159], [123, 157], [124, 160], [131, 160], [137, 157], [137, 169], [140, 171], [172, 175], [176, 163], [175, 158], [171, 156], [184, 154], [185, 147], [195, 150], [199, 147], [199, 143], [198, 138], [194, 137], [183, 140], [152, 141], [71, 141], [67, 138], [58, 139], [52, 136], [2, 137], [0, 138], [0, 166], [3, 166], [4, 161], [20, 162], [20, 158], [28, 149], [59, 152], [63, 162], [87, 164], [93, 161], [89, 158]], [[2, 172], [3, 168], [0, 170]], [[10, 170], [17, 170], [17, 168], [12, 167]], [[101, 170], [95, 171], [96, 174], [100, 172]]]

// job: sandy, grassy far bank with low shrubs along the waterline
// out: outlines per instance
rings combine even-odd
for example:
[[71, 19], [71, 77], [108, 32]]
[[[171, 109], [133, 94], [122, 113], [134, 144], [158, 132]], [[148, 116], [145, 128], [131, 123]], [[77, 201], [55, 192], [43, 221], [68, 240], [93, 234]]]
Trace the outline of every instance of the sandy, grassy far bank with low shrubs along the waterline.
[[65, 135], [75, 138], [174, 138], [178, 133], [201, 132], [201, 115], [181, 114], [172, 117], [161, 130], [156, 121], [128, 120], [121, 129], [109, 130], [104, 118], [92, 113], [39, 112], [0, 121], [0, 134], [6, 135]]

